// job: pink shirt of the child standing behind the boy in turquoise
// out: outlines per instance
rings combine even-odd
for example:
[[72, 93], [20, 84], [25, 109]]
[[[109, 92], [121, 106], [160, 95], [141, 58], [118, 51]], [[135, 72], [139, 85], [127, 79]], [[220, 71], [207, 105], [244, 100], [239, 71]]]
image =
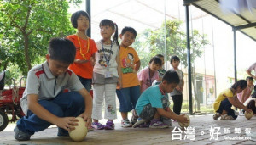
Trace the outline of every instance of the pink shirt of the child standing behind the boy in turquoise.
[[152, 86], [152, 83], [154, 82], [154, 80], [159, 79], [159, 75], [158, 72], [155, 71], [153, 77], [149, 77], [149, 67], [145, 68], [143, 70], [141, 70], [138, 74], [137, 74], [137, 78], [139, 81], [143, 81], [143, 92], [150, 86]]

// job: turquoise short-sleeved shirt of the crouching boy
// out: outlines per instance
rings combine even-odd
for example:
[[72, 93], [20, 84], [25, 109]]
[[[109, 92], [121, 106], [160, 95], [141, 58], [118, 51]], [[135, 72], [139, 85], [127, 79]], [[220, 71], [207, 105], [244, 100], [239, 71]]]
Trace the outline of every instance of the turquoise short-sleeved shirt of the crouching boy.
[[165, 98], [166, 95], [163, 95], [160, 92], [159, 85], [151, 86], [147, 90], [145, 90], [140, 98], [137, 100], [137, 104], [135, 110], [137, 114], [141, 114], [144, 106], [149, 103], [153, 108], [161, 108], [163, 109], [162, 98]]

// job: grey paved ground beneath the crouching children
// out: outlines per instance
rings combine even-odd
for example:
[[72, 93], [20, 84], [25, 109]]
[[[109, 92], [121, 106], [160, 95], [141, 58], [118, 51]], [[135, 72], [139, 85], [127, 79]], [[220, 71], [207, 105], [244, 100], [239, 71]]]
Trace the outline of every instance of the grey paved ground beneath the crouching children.
[[[177, 132], [172, 132], [179, 126], [177, 122], [172, 123], [172, 127], [168, 129], [124, 129], [116, 123], [114, 131], [89, 132], [83, 142], [73, 142], [69, 137], [57, 137], [55, 126], [35, 133], [27, 142], [16, 141], [13, 131], [2, 131], [0, 144], [256, 144], [256, 116], [251, 120], [239, 116], [237, 120], [224, 121], [212, 120], [212, 115], [202, 115], [190, 116], [190, 120], [191, 128], [187, 132], [181, 130], [182, 133], [178, 132], [178, 129], [175, 130]], [[218, 127], [219, 131], [217, 131]], [[212, 131], [210, 131], [211, 128]], [[181, 140], [180, 137], [182, 137]], [[229, 138], [224, 139], [224, 137]], [[251, 137], [251, 139], [245, 140], [245, 137]]]

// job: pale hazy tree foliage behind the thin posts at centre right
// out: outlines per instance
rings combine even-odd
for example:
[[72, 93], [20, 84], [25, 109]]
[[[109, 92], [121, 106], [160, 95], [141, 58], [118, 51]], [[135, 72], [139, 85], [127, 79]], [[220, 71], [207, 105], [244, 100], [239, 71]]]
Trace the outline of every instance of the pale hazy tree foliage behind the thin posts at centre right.
[[[188, 66], [186, 33], [182, 31], [181, 26], [182, 22], [179, 20], [166, 20], [166, 25], [163, 23], [160, 29], [155, 31], [147, 29], [137, 36], [134, 47], [139, 53], [143, 67], [148, 65], [149, 59], [154, 55], [158, 53], [165, 54], [165, 39], [167, 61], [175, 54], [181, 59], [183, 65]], [[192, 31], [190, 40], [191, 62], [193, 62], [196, 57], [201, 57], [202, 47], [209, 42], [206, 35], [200, 34], [197, 30]]]

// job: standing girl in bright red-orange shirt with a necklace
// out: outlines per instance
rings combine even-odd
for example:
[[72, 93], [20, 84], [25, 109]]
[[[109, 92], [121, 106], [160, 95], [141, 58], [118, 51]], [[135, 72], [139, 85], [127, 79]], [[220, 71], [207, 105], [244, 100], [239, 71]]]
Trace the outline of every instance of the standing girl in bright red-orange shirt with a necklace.
[[86, 35], [90, 27], [90, 17], [85, 11], [77, 11], [71, 16], [71, 23], [78, 31], [76, 34], [67, 36], [76, 47], [76, 57], [69, 69], [78, 75], [79, 80], [85, 89], [90, 92], [93, 65], [95, 62], [95, 53], [97, 51], [96, 43]]

